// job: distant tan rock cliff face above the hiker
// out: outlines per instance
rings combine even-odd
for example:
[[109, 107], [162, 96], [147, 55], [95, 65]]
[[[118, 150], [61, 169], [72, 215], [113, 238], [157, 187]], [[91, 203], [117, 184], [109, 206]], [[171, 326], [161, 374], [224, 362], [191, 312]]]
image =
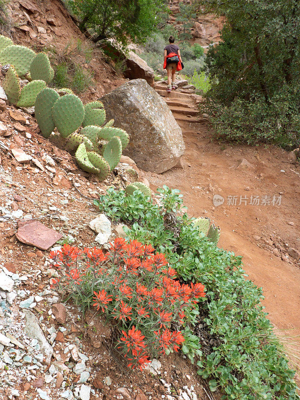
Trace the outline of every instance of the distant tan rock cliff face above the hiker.
[[[189, 3], [189, 0], [170, 0], [169, 9], [171, 10], [170, 22], [173, 23], [176, 29], [180, 32], [182, 24], [176, 21], [176, 17], [179, 12], [179, 2]], [[197, 15], [196, 18], [192, 18], [191, 22], [193, 27], [191, 28], [192, 42], [199, 43], [202, 47], [207, 47], [210, 43], [220, 41], [220, 33], [223, 24], [224, 17], [216, 17], [212, 13], [202, 13]]]

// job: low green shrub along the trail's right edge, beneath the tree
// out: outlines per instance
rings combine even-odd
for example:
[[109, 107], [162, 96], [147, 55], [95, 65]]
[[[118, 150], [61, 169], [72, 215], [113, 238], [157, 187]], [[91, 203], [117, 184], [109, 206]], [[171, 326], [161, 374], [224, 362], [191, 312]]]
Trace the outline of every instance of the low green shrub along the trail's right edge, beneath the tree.
[[[209, 92], [208, 92], [209, 93]], [[201, 105], [210, 115], [215, 136], [239, 143], [271, 142], [294, 148], [300, 141], [300, 90], [281, 90], [267, 104], [262, 95], [234, 99], [228, 106], [212, 100]]]

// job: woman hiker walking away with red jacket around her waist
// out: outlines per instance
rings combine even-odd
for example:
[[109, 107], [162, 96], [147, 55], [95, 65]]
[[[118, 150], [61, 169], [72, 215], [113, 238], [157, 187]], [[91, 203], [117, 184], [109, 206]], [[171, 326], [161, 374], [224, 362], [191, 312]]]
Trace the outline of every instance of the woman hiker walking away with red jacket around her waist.
[[164, 47], [164, 61], [163, 68], [167, 73], [167, 87], [166, 91], [170, 92], [171, 89], [175, 90], [175, 72], [181, 71], [182, 60], [180, 56], [179, 47], [174, 44], [174, 37], [169, 37], [169, 43]]

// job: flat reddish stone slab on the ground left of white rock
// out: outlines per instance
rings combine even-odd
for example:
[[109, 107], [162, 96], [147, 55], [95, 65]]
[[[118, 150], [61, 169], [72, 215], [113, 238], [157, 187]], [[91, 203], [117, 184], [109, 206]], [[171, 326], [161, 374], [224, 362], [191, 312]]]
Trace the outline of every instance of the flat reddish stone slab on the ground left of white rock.
[[15, 236], [22, 243], [31, 244], [41, 250], [47, 250], [62, 237], [54, 229], [50, 229], [36, 220], [18, 221], [18, 229]]

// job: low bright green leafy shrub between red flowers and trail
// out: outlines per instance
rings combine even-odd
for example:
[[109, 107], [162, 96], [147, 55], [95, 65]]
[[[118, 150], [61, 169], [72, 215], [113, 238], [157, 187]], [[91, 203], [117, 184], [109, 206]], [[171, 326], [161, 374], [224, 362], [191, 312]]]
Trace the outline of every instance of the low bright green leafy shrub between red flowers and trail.
[[[241, 257], [217, 248], [186, 214], [179, 215], [178, 190], [163, 186], [158, 193], [160, 207], [138, 190], [126, 197], [112, 188], [94, 204], [114, 221], [129, 224], [128, 238], [166, 253], [183, 281], [201, 281], [207, 288], [207, 302], [189, 315], [183, 353], [198, 359], [198, 374], [226, 398], [298, 400], [294, 371], [260, 303], [262, 290], [245, 279]], [[198, 338], [208, 344], [200, 346]], [[196, 350], [203, 352], [200, 359]]]

